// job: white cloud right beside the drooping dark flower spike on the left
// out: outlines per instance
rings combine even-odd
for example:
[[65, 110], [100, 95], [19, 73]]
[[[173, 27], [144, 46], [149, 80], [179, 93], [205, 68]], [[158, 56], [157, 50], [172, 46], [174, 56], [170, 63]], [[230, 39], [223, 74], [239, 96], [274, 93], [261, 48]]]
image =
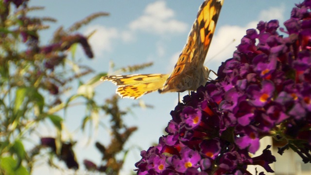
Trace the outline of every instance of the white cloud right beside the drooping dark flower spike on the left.
[[121, 37], [115, 28], [106, 28], [100, 25], [90, 26], [84, 32], [86, 35], [96, 31], [89, 39], [89, 43], [95, 55], [101, 56], [105, 51], [112, 50], [112, 40]]

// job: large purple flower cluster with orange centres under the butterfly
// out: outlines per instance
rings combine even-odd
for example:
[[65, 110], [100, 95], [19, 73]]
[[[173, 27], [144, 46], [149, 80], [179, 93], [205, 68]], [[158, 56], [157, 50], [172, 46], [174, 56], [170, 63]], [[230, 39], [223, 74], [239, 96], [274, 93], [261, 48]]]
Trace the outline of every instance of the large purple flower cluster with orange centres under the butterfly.
[[[279, 35], [277, 20], [249, 29], [218, 78], [185, 96], [171, 112], [167, 136], [141, 152], [138, 175], [242, 175], [247, 165], [276, 158], [259, 140], [274, 136], [311, 162], [311, 0], [292, 10]], [[257, 45], [256, 45], [257, 42]], [[263, 174], [263, 173], [261, 173]]]

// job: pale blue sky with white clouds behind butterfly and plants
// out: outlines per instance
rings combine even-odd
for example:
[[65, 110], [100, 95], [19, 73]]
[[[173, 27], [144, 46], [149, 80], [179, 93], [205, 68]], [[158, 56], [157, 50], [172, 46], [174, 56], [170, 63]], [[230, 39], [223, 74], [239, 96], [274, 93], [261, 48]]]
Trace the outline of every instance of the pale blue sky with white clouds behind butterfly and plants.
[[[239, 44], [246, 29], [256, 28], [259, 20], [269, 21], [278, 19], [280, 25], [290, 18], [290, 11], [294, 3], [302, 0], [225, 0], [220, 18], [216, 27], [211, 46], [207, 53], [205, 65], [217, 71], [221, 62], [232, 57], [235, 47]], [[192, 23], [197, 15], [202, 0], [31, 0], [30, 5], [45, 6], [44, 11], [33, 12], [32, 15], [50, 16], [58, 21], [51, 25], [51, 29], [43, 31], [43, 40], [48, 42], [52, 32], [59, 26], [69, 27], [75, 21], [85, 18], [95, 12], [108, 12], [110, 16], [98, 18], [80, 32], [89, 34], [93, 30], [97, 33], [90, 38], [90, 44], [95, 53], [93, 60], [86, 59], [81, 51], [76, 57], [94, 70], [106, 72], [109, 62], [113, 61], [116, 68], [145, 62], [154, 62], [154, 66], [135, 73], [170, 73], [178, 59]], [[233, 39], [235, 42], [232, 43]], [[113, 73], [113, 70], [109, 71]], [[90, 78], [90, 77], [89, 77]], [[115, 93], [110, 82], [104, 82], [96, 87], [96, 100], [104, 99]], [[187, 93], [186, 93], [187, 94]], [[126, 144], [131, 148], [126, 159], [122, 175], [128, 175], [135, 169], [134, 163], [140, 159], [140, 150], [146, 150], [152, 143], [164, 134], [164, 128], [170, 121], [170, 111], [177, 104], [177, 93], [147, 94], [138, 101], [122, 99], [121, 107], [128, 107], [133, 103], [143, 101], [153, 105], [153, 109], [133, 108], [133, 114], [125, 116], [128, 126], [138, 126], [138, 131]], [[78, 153], [77, 159], [82, 163], [84, 158], [100, 163], [101, 155], [94, 147], [99, 140], [107, 143], [109, 130], [100, 128], [92, 135], [87, 144], [87, 134], [78, 132], [76, 128], [84, 116], [84, 109], [69, 110], [66, 117], [66, 126], [74, 140], [80, 140], [74, 147]], [[107, 117], [99, 116], [107, 122]], [[52, 128], [41, 128], [42, 137], [54, 136]], [[66, 134], [65, 134], [66, 135]], [[69, 134], [68, 134], [69, 135]], [[65, 137], [66, 138], [66, 137]], [[34, 174], [48, 170], [51, 175], [62, 174], [48, 168], [41, 161], [41, 166], [35, 169]], [[83, 172], [83, 165], [80, 172]]]

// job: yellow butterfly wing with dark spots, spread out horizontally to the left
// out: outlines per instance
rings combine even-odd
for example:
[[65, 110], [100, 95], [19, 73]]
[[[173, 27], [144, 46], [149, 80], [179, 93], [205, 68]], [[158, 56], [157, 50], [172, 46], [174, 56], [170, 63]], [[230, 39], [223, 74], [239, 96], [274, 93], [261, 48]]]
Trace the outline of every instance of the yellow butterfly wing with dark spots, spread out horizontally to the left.
[[144, 94], [161, 89], [168, 77], [169, 74], [111, 75], [104, 76], [101, 80], [111, 81], [117, 85], [116, 93], [122, 98], [137, 99]]

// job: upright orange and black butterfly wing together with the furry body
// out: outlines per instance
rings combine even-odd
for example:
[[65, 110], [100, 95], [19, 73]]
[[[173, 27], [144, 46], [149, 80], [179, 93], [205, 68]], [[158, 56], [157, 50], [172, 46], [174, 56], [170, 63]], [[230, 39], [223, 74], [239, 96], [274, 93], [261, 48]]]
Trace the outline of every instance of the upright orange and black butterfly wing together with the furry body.
[[205, 57], [215, 32], [216, 23], [224, 0], [206, 0], [199, 8], [187, 43], [179, 55], [170, 77], [160, 93], [196, 90], [207, 82]]

